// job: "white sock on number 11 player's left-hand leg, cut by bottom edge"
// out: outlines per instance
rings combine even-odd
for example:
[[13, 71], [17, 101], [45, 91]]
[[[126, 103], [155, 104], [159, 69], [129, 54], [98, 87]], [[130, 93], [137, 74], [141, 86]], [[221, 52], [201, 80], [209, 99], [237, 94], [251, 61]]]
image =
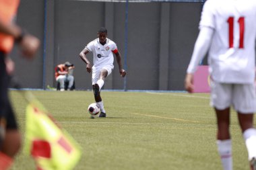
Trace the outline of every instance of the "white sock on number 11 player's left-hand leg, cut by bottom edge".
[[232, 170], [232, 142], [228, 140], [217, 140], [218, 153], [222, 160], [224, 170]]

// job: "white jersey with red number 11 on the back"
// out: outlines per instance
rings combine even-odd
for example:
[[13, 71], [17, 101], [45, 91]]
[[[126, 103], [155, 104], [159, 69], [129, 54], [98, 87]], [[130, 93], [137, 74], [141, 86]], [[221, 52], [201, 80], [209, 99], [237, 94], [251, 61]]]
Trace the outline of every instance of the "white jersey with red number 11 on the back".
[[214, 81], [253, 83], [255, 79], [255, 0], [207, 0], [199, 28], [214, 29], [208, 63]]

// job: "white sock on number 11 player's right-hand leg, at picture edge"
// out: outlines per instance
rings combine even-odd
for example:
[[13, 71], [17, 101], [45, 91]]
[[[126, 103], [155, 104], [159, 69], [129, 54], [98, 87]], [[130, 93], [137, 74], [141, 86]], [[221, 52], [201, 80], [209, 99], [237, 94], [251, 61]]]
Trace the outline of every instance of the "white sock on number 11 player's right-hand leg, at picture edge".
[[245, 139], [245, 145], [247, 146], [249, 161], [256, 158], [256, 129], [249, 128], [243, 133]]

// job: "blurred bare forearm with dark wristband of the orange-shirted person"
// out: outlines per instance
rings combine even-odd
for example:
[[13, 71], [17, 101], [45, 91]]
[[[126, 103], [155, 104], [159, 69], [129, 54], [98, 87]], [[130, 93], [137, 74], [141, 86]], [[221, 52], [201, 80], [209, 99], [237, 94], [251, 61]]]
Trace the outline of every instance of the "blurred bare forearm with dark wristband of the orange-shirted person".
[[32, 58], [36, 54], [40, 41], [30, 34], [24, 34], [19, 26], [13, 24], [6, 25], [0, 20], [0, 32], [13, 36], [26, 58]]

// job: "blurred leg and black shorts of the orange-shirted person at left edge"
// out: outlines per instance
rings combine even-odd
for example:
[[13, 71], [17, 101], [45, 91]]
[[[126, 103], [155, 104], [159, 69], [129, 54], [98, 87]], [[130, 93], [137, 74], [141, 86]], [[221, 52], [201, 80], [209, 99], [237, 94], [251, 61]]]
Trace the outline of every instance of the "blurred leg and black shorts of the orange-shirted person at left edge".
[[[0, 169], [8, 169], [18, 153], [21, 139], [8, 97], [9, 76], [0, 54]], [[13, 119], [11, 119], [13, 118]], [[12, 129], [15, 132], [10, 132]]]

